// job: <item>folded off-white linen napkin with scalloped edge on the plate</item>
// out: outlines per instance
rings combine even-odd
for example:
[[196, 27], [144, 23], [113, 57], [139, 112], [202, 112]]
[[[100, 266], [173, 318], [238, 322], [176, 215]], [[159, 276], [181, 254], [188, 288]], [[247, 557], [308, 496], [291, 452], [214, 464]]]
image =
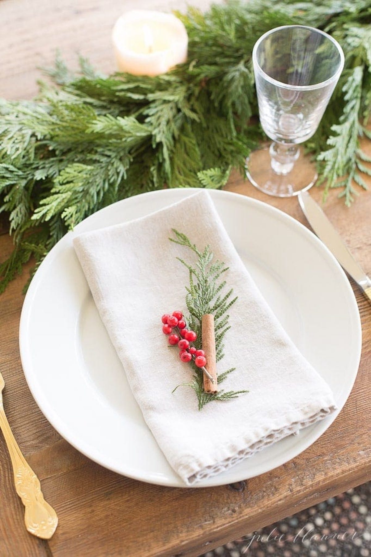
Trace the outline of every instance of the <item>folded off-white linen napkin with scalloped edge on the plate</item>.
[[[229, 310], [221, 388], [249, 390], [197, 408], [189, 363], [170, 349], [161, 316], [186, 313], [188, 248], [169, 241], [171, 229], [224, 261], [226, 287], [238, 300]], [[170, 465], [187, 485], [213, 476], [335, 410], [327, 383], [296, 349], [231, 242], [207, 192], [143, 218], [73, 241], [101, 319], [125, 369], [144, 419]], [[195, 256], [196, 258], [196, 256]]]

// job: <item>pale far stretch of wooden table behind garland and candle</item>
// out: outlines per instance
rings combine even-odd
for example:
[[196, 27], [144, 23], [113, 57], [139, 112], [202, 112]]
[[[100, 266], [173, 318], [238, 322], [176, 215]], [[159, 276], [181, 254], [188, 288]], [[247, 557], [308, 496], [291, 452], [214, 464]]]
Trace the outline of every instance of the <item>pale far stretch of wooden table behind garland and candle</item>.
[[[51, 66], [56, 51], [69, 67], [80, 53], [102, 72], [115, 70], [111, 31], [127, 9], [185, 11], [186, 0], [1, 0], [0, 97], [27, 99], [36, 95], [38, 67]], [[196, 0], [206, 9], [210, 0]]]

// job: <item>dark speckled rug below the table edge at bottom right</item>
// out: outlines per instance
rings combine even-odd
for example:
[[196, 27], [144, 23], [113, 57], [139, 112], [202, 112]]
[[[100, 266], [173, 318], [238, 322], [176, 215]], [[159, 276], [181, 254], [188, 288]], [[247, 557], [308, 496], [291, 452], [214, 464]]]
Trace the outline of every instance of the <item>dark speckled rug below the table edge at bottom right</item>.
[[371, 557], [371, 483], [201, 557]]

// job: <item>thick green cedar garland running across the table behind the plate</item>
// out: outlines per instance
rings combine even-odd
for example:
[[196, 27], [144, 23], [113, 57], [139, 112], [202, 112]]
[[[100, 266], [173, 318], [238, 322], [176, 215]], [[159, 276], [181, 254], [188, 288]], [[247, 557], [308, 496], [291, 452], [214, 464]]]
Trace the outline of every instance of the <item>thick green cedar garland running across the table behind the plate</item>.
[[[219, 188], [263, 137], [251, 51], [270, 28], [320, 27], [345, 52], [345, 69], [306, 145], [321, 180], [352, 202], [365, 188], [359, 149], [371, 107], [369, 0], [249, 0], [178, 14], [188, 61], [158, 77], [102, 76], [57, 57], [33, 101], [0, 100], [0, 212], [14, 251], [0, 263], [0, 291], [29, 258], [36, 266], [69, 229], [110, 203], [166, 187]], [[340, 180], [339, 180], [340, 178]], [[354, 180], [354, 182], [352, 182]], [[359, 189], [359, 188], [358, 188]]]

